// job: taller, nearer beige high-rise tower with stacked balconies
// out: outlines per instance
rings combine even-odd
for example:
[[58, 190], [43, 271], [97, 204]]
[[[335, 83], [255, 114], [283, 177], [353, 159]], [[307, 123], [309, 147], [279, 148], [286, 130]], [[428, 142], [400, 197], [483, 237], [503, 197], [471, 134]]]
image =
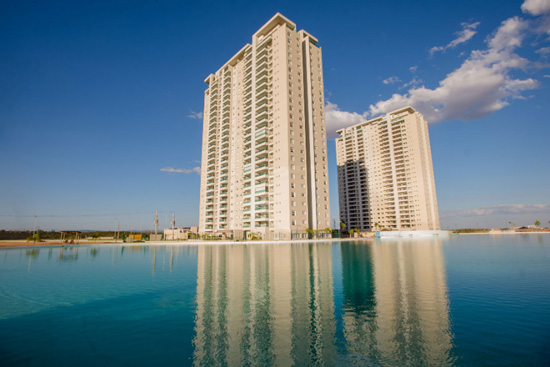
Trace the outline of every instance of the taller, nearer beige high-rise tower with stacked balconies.
[[206, 78], [201, 233], [291, 239], [330, 227], [317, 42], [276, 14]]

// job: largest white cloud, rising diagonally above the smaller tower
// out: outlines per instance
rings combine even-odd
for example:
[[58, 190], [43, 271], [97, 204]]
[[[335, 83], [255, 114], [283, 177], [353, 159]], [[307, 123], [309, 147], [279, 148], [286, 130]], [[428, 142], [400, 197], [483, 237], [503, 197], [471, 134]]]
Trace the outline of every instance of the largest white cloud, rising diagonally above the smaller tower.
[[[475, 23], [474, 23], [475, 24]], [[449, 73], [435, 89], [413, 87], [370, 106], [369, 115], [387, 113], [407, 105], [419, 110], [429, 122], [474, 120], [498, 111], [521, 92], [537, 88], [534, 79], [512, 77], [530, 62], [514, 50], [528, 35], [529, 23], [518, 17], [502, 22], [486, 41], [485, 50], [473, 51], [463, 64]]]

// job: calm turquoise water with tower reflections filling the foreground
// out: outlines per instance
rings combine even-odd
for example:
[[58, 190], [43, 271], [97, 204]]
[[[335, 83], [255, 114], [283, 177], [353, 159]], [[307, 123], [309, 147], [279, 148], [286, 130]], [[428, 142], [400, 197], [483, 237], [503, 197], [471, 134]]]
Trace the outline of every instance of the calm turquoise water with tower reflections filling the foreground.
[[0, 250], [2, 366], [543, 366], [550, 235]]

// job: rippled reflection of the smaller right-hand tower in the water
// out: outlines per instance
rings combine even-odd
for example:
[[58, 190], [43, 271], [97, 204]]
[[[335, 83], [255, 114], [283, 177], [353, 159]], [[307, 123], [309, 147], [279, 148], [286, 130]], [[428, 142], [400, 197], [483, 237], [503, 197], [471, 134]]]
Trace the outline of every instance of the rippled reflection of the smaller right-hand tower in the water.
[[343, 244], [342, 262], [348, 358], [391, 365], [450, 362], [440, 240]]

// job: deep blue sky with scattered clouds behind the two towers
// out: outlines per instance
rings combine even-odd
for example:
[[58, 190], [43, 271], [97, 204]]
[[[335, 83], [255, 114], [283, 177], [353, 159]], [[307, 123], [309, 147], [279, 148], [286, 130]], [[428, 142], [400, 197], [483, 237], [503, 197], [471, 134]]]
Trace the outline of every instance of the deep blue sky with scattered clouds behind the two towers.
[[443, 228], [548, 223], [549, 0], [4, 1], [0, 228], [196, 225], [204, 79], [276, 12], [320, 41], [329, 132], [425, 115]]

